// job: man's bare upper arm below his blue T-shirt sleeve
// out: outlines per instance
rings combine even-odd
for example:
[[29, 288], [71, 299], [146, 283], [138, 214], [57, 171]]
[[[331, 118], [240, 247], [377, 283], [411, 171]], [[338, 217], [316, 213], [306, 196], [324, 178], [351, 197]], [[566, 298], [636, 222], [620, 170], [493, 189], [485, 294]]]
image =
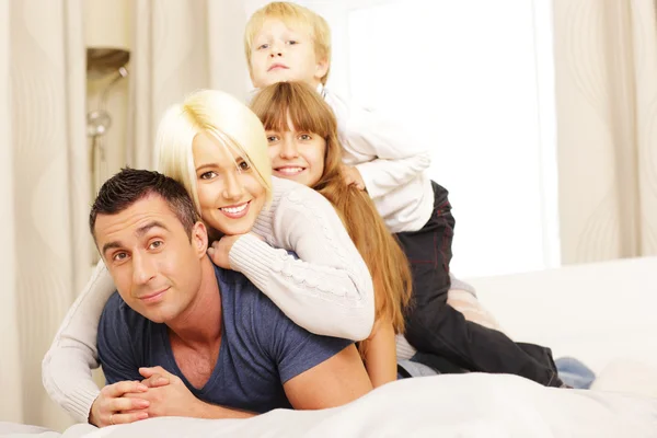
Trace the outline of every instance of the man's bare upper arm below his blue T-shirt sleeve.
[[349, 403], [372, 389], [354, 345], [293, 377], [283, 385], [295, 410], [322, 410]]

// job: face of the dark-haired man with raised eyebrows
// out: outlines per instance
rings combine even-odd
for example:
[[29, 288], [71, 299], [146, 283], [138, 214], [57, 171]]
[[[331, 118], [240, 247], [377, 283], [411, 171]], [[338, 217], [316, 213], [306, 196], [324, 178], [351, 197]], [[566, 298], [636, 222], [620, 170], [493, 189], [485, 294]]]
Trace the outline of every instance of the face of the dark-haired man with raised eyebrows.
[[95, 241], [118, 293], [157, 323], [176, 321], [201, 283], [207, 234], [197, 222], [192, 240], [166, 201], [147, 195], [116, 215], [99, 215]]

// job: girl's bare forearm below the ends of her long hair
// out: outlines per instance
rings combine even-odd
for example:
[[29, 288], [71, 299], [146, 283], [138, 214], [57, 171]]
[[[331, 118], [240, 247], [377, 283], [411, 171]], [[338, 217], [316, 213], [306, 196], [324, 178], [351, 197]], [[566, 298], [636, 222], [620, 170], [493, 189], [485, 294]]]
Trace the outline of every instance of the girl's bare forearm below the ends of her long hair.
[[394, 328], [389, 321], [378, 320], [370, 337], [362, 342], [365, 368], [372, 387], [396, 380], [396, 347]]

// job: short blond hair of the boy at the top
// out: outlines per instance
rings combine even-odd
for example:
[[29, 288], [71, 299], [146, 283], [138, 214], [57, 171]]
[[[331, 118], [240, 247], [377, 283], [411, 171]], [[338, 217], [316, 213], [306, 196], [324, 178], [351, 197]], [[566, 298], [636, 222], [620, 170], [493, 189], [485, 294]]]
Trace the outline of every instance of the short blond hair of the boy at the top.
[[251, 15], [244, 30], [244, 54], [246, 55], [246, 65], [249, 73], [253, 74], [251, 68], [251, 54], [253, 51], [253, 39], [263, 28], [267, 19], [280, 20], [288, 27], [304, 26], [314, 43], [315, 56], [320, 60], [326, 60], [326, 74], [321, 79], [322, 84], [326, 84], [328, 72], [331, 71], [331, 28], [328, 23], [321, 15], [300, 4], [287, 1], [273, 1], [258, 9]]

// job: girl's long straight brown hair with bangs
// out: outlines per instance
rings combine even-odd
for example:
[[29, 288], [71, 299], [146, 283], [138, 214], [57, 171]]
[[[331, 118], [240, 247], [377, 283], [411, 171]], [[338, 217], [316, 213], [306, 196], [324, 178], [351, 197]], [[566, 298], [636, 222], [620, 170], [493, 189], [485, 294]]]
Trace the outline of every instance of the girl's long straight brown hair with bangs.
[[345, 184], [337, 123], [331, 107], [309, 85], [279, 82], [262, 89], [251, 102], [266, 130], [314, 132], [326, 141], [324, 173], [312, 188], [333, 205], [365, 260], [374, 284], [376, 319], [388, 320], [404, 332], [404, 308], [412, 291], [406, 255], [390, 233], [366, 192]]

